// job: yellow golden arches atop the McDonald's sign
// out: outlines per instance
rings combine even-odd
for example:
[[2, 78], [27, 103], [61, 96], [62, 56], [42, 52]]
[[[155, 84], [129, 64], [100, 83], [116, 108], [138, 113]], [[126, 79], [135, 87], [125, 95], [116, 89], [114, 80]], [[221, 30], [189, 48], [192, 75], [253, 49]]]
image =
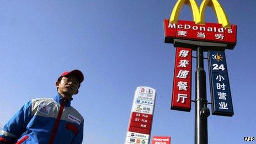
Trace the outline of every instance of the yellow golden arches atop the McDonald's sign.
[[173, 8], [172, 14], [170, 15], [169, 23], [178, 23], [179, 13], [184, 4], [188, 4], [190, 6], [193, 19], [196, 24], [205, 24], [205, 8], [211, 7], [212, 10], [215, 11], [218, 23], [222, 24], [223, 28], [231, 28], [227, 15], [217, 0], [203, 0], [200, 9], [195, 0], [178, 0]]

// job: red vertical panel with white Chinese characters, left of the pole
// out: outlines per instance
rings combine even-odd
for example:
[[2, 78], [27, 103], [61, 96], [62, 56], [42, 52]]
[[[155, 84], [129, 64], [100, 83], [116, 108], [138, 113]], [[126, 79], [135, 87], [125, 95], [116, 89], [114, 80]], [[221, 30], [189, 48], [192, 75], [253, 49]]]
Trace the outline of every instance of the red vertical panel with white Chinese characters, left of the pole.
[[182, 111], [191, 109], [191, 65], [192, 50], [177, 47], [171, 109]]

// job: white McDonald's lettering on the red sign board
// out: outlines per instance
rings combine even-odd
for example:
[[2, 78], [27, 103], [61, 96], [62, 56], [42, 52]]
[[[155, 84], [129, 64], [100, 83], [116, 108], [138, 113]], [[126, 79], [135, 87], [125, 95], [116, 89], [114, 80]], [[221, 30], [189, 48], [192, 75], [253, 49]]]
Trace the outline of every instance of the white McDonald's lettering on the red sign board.
[[216, 27], [206, 27], [206, 26], [197, 26], [197, 25], [189, 25], [189, 24], [175, 24], [169, 23], [168, 28], [171, 29], [186, 29], [186, 30], [199, 30], [199, 31], [210, 31], [210, 32], [217, 32], [217, 33], [224, 33], [227, 30], [227, 33], [232, 34], [233, 31], [230, 28], [216, 28]]

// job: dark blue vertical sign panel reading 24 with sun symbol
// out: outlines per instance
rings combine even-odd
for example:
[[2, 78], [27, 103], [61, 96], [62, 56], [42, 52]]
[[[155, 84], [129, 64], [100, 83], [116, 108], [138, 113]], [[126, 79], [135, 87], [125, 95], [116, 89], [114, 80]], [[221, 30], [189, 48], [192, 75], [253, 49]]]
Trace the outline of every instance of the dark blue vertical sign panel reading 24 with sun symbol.
[[224, 51], [208, 51], [212, 114], [232, 116], [233, 105]]

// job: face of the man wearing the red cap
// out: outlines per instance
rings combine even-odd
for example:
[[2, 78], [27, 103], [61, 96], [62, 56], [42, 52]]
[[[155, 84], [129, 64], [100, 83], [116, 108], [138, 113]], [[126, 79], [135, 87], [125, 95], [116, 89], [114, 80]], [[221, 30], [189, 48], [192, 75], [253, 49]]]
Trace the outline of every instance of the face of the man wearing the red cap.
[[60, 82], [56, 82], [58, 93], [71, 98], [73, 94], [78, 93], [79, 81], [76, 76], [67, 75], [62, 77]]

